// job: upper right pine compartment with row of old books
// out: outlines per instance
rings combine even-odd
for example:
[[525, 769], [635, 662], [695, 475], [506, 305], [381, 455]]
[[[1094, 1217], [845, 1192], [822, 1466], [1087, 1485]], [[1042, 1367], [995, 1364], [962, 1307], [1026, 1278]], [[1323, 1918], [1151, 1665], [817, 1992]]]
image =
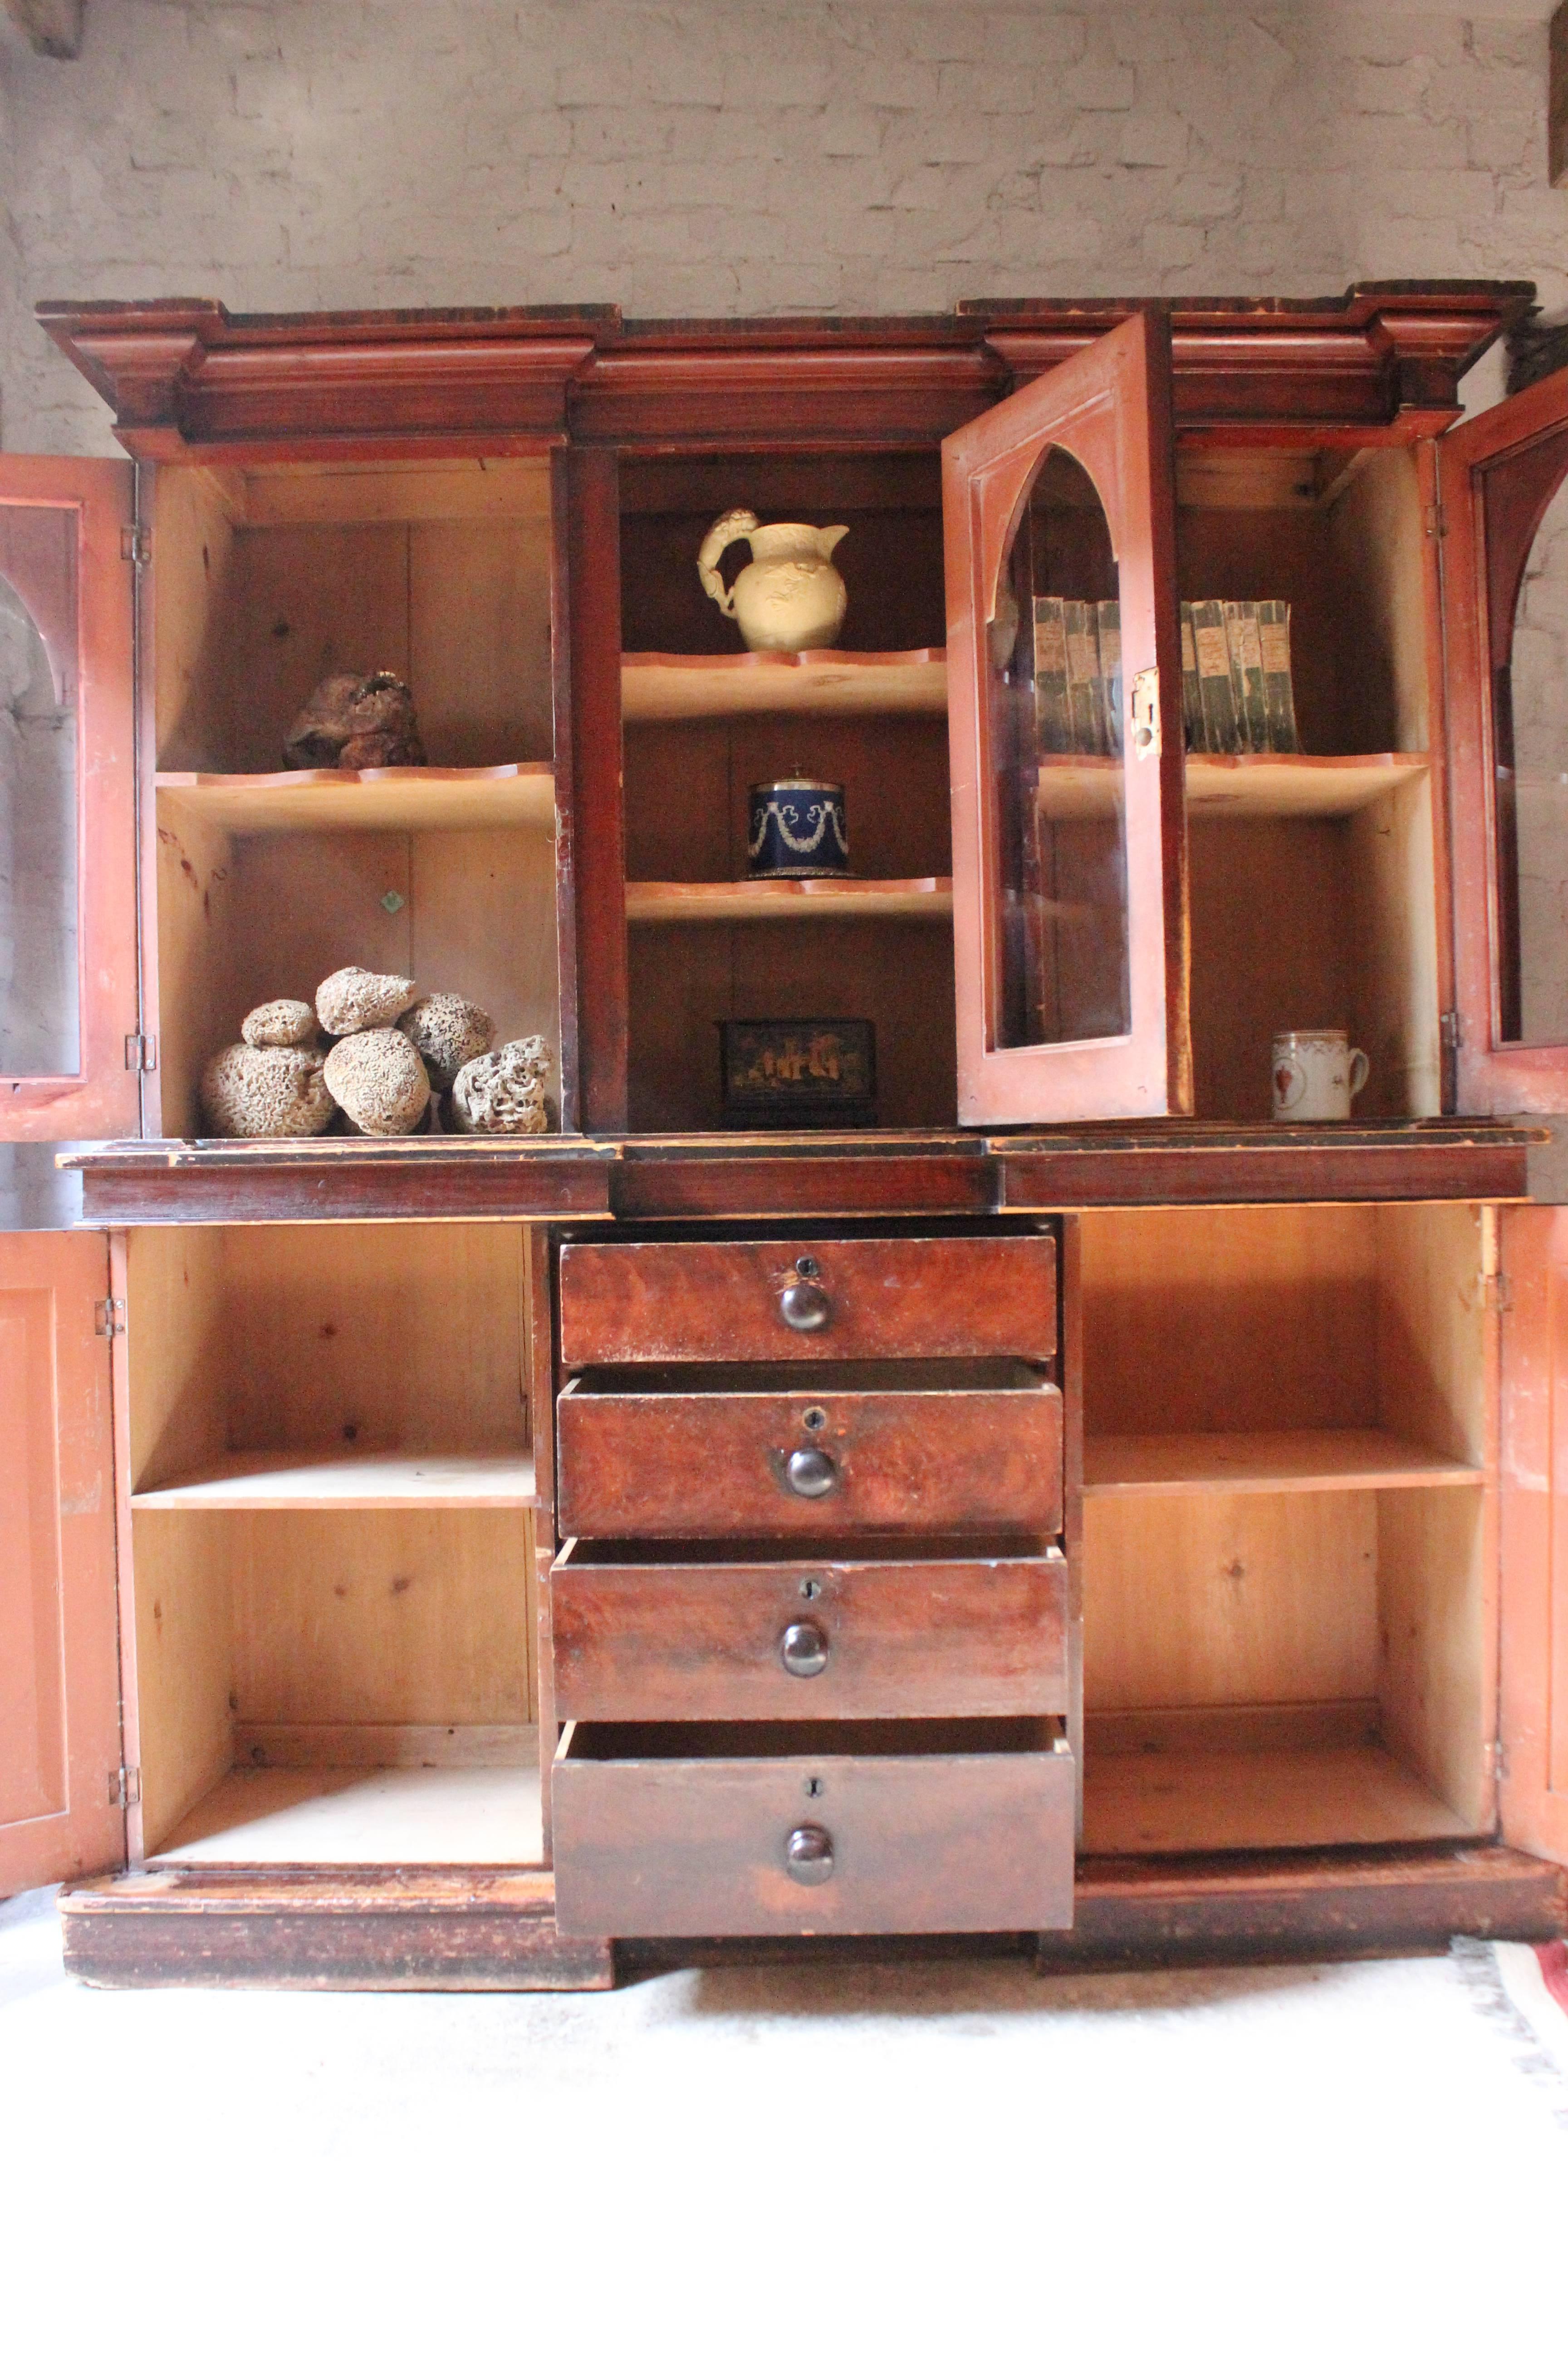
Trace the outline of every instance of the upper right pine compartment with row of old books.
[[[1175, 496], [1182, 638], [1199, 673], [1187, 682], [1194, 1111], [1272, 1120], [1272, 1038], [1342, 1028], [1371, 1064], [1352, 1118], [1432, 1118], [1441, 805], [1418, 452], [1199, 445], [1178, 449]], [[1237, 666], [1248, 638], [1251, 654], [1288, 654], [1293, 715], [1276, 692], [1272, 729], [1267, 713], [1258, 725], [1258, 673]]]

